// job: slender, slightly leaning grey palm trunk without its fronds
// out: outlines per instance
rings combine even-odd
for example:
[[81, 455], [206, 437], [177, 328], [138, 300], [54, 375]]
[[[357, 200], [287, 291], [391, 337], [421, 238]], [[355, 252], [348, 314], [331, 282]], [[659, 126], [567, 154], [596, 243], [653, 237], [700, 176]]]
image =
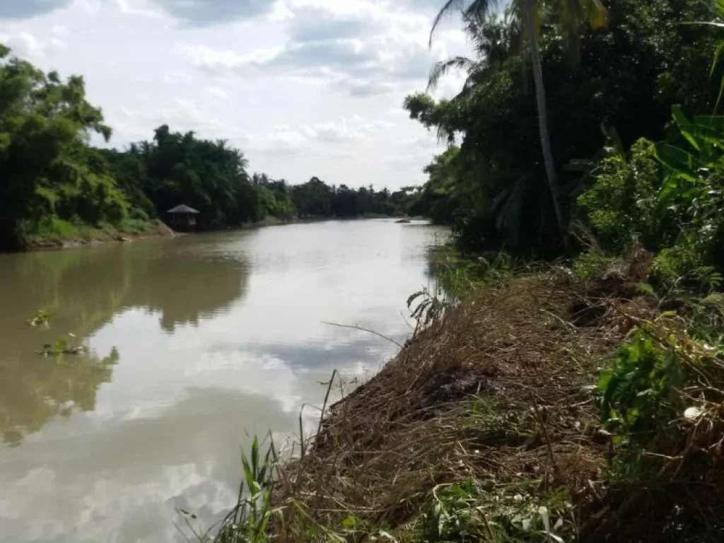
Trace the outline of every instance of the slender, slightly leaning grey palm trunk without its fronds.
[[553, 163], [553, 151], [550, 147], [550, 132], [548, 131], [548, 109], [545, 99], [545, 86], [543, 84], [543, 67], [541, 65], [541, 55], [538, 46], [538, 36], [536, 35], [535, 25], [535, 7], [534, 0], [525, 0], [526, 2], [526, 32], [531, 46], [531, 64], [533, 65], [533, 80], [536, 85], [536, 104], [538, 106], [538, 127], [541, 136], [541, 146], [543, 148], [543, 161], [545, 163], [545, 172], [548, 178], [548, 188], [553, 199], [553, 209], [555, 210], [555, 218], [558, 222], [560, 235], [563, 237], [563, 244], [568, 251], [568, 235], [566, 232], [565, 216], [563, 215], [563, 204], [560, 198], [560, 186], [558, 178], [555, 174], [555, 164]]

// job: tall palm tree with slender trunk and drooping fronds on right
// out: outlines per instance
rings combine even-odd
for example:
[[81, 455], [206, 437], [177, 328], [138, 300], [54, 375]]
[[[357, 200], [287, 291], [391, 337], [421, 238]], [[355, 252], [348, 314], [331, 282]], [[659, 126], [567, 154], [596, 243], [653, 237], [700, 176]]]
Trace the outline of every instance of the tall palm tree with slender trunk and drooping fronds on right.
[[[512, 7], [513, 13], [517, 14], [519, 19], [524, 20], [523, 27], [528, 38], [531, 52], [533, 80], [536, 89], [536, 106], [538, 109], [538, 127], [541, 146], [543, 149], [543, 161], [546, 170], [548, 188], [553, 201], [553, 209], [558, 222], [558, 228], [560, 229], [560, 234], [563, 237], [563, 243], [566, 248], [568, 248], [568, 235], [566, 235], [566, 220], [563, 212], [563, 201], [561, 198], [560, 184], [558, 183], [555, 171], [553, 151], [550, 143], [548, 109], [546, 106], [545, 86], [543, 82], [543, 68], [540, 58], [538, 35], [536, 32], [536, 20], [538, 20], [539, 16], [538, 9], [541, 7], [541, 3], [544, 3], [545, 1], [546, 0], [513, 0]], [[594, 28], [605, 25], [607, 22], [607, 11], [601, 3], [601, 0], [551, 1], [560, 3], [561, 22], [563, 22], [573, 35], [576, 35], [576, 31], [578, 30], [578, 26], [581, 25], [581, 22], [587, 21]], [[445, 17], [445, 14], [450, 13], [453, 10], [461, 11], [463, 12], [463, 16], [466, 20], [477, 20], [482, 22], [486, 20], [490, 11], [501, 3], [501, 0], [447, 0], [432, 23], [432, 30], [430, 30], [430, 44], [432, 45], [434, 31], [442, 21], [442, 18]], [[466, 65], [460, 61], [458, 61], [457, 65], [460, 67], [470, 67], [469, 64]], [[454, 64], [452, 66], [454, 66]], [[446, 70], [448, 69], [450, 68], [447, 68]], [[442, 68], [440, 70], [442, 72]], [[439, 77], [439, 75], [437, 77]]]

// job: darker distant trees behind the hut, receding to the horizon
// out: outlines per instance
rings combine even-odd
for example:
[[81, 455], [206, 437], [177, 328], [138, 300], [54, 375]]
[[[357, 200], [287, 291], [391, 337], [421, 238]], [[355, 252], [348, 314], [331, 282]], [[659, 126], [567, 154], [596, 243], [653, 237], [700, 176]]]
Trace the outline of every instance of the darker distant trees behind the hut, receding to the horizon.
[[185, 203], [201, 214], [204, 230], [259, 222], [268, 216], [353, 217], [403, 213], [415, 189], [351, 189], [312, 177], [303, 185], [248, 174], [248, 161], [225, 140], [201, 140], [194, 132], [156, 129], [152, 141], [131, 144], [127, 151], [98, 150], [111, 177], [143, 217], [161, 216]]

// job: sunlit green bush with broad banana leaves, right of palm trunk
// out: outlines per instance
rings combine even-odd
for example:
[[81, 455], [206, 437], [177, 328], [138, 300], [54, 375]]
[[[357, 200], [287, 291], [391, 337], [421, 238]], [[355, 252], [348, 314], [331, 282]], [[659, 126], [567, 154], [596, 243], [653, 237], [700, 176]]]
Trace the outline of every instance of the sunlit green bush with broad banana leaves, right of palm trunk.
[[724, 117], [672, 114], [665, 141], [639, 140], [628, 156], [603, 160], [578, 206], [603, 248], [642, 244], [660, 253], [658, 279], [711, 286], [724, 266]]

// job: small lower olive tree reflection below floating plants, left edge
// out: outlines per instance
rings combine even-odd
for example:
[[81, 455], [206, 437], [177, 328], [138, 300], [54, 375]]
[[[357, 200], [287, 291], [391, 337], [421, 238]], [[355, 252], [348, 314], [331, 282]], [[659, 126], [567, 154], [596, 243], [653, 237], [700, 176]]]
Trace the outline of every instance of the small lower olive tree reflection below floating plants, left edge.
[[20, 445], [56, 416], [93, 411], [102, 383], [111, 381], [118, 362], [114, 348], [106, 358], [65, 355], [35, 361], [16, 359], [0, 366], [0, 434], [9, 445]]

